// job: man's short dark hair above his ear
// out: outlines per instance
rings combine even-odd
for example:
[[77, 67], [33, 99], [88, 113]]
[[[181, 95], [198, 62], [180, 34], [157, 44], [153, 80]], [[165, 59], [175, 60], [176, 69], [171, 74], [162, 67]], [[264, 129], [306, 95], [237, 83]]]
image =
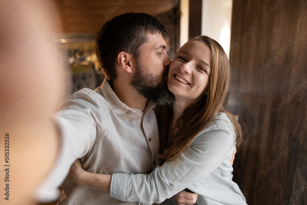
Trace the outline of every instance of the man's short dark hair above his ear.
[[165, 26], [144, 13], [125, 13], [107, 21], [96, 37], [96, 56], [107, 80], [116, 77], [115, 63], [119, 52], [132, 54], [136, 59], [139, 47], [147, 41], [147, 34], [168, 35]]

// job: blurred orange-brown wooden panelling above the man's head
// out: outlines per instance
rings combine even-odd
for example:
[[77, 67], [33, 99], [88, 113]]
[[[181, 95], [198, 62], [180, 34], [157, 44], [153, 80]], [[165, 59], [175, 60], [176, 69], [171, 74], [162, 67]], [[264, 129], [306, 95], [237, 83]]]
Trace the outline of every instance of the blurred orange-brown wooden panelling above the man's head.
[[97, 33], [99, 27], [118, 14], [142, 12], [156, 16], [179, 4], [179, 0], [52, 1], [60, 12], [65, 33]]

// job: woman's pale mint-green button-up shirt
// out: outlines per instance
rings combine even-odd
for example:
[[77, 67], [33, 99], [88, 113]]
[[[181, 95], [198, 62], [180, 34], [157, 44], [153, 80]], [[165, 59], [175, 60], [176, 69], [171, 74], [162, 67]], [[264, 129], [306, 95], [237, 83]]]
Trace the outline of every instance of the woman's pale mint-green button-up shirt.
[[[150, 174], [112, 175], [111, 196], [143, 204], [161, 203], [188, 188], [199, 194], [196, 204], [245, 204], [246, 199], [232, 181], [231, 154], [235, 133], [225, 113], [220, 113], [193, 140], [186, 156], [158, 166]], [[164, 204], [177, 204], [166, 200]]]

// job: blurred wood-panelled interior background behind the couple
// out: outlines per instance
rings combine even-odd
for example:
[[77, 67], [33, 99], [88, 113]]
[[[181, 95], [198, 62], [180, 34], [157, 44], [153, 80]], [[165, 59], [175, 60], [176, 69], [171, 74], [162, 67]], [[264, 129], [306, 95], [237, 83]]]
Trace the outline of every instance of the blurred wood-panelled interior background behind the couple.
[[[12, 2], [2, 18], [17, 12]], [[171, 59], [197, 35], [218, 41], [233, 70], [225, 109], [244, 135], [233, 180], [248, 204], [307, 204], [306, 0], [46, 0], [43, 11], [37, 32], [52, 29], [54, 68], [72, 84], [67, 96], [101, 85], [95, 37], [115, 15], [155, 16], [170, 34]]]

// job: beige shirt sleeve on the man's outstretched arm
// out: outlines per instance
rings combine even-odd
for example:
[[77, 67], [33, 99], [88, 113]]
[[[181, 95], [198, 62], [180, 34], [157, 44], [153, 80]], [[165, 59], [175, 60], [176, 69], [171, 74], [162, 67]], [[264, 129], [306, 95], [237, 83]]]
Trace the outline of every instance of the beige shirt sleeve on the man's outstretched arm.
[[38, 196], [41, 202], [50, 202], [60, 196], [58, 187], [67, 177], [72, 163], [84, 156], [95, 141], [99, 130], [96, 122], [99, 119], [103, 124], [103, 116], [95, 114], [99, 113], [95, 110], [101, 110], [101, 105], [93, 95], [87, 90], [72, 94], [60, 104], [59, 111], [53, 116], [60, 132], [61, 148], [56, 164], [43, 182], [44, 189]]

